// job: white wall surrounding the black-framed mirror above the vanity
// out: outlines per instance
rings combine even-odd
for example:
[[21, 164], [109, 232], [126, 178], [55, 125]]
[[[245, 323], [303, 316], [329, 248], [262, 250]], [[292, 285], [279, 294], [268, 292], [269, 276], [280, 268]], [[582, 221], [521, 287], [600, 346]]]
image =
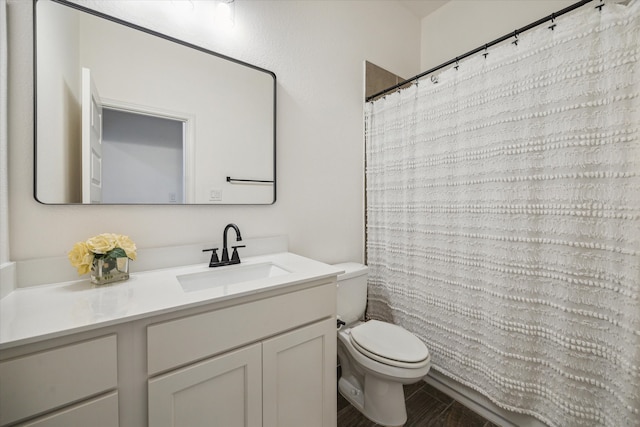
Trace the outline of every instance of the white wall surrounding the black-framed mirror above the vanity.
[[[361, 261], [363, 61], [419, 72], [420, 22], [395, 1], [237, 0], [229, 33], [175, 2], [83, 2], [95, 9], [272, 70], [278, 76], [278, 200], [270, 206], [50, 206], [33, 198], [31, 2], [10, 0], [9, 228], [11, 259], [64, 256], [101, 232], [141, 248], [289, 236], [290, 250], [325, 262]], [[384, 25], [374, 25], [384, 23]], [[402, 48], [398, 48], [402, 46]], [[5, 234], [0, 236], [3, 241]], [[71, 268], [71, 267], [69, 267]]]

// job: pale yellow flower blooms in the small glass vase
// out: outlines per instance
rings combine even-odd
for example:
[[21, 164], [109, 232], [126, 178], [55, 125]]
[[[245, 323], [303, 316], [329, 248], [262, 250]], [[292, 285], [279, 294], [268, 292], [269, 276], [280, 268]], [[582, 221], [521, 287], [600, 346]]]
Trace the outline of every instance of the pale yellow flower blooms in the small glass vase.
[[78, 269], [79, 275], [89, 273], [94, 260], [107, 261], [124, 257], [136, 259], [136, 244], [129, 236], [113, 233], [103, 233], [84, 242], [77, 242], [69, 252], [69, 261]]

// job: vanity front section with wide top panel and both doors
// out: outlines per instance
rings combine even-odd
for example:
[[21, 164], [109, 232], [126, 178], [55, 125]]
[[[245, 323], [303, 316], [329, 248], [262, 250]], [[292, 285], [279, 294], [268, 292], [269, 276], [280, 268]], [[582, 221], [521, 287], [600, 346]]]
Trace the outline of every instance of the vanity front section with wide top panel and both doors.
[[335, 426], [335, 292], [328, 282], [149, 326], [149, 426]]

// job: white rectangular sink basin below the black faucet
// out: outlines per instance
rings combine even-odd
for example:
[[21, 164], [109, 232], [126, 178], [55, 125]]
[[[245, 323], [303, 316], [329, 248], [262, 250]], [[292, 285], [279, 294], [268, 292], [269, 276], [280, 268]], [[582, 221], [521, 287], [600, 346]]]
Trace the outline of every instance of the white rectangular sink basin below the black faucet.
[[176, 278], [185, 292], [193, 292], [252, 280], [267, 279], [284, 274], [289, 274], [289, 271], [272, 262], [265, 262], [261, 264], [236, 264], [215, 267], [202, 273], [184, 274], [176, 276]]

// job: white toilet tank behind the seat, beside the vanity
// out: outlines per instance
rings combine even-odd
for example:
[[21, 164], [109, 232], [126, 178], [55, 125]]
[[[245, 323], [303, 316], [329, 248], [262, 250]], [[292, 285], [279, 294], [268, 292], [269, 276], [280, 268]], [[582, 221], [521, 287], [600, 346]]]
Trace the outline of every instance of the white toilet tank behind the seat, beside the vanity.
[[335, 267], [344, 270], [338, 275], [338, 316], [349, 325], [364, 318], [369, 268], [355, 262], [336, 264]]

